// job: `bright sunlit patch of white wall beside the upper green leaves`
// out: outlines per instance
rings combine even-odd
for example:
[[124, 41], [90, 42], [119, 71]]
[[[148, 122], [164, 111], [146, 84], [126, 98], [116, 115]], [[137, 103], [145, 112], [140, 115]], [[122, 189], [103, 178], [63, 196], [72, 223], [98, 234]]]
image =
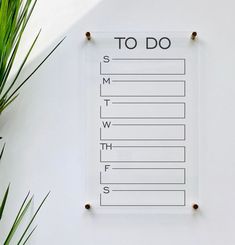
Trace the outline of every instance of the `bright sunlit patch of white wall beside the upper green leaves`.
[[100, 0], [38, 0], [22, 40], [19, 59], [23, 57], [40, 29], [40, 37], [29, 61], [65, 33], [98, 2]]

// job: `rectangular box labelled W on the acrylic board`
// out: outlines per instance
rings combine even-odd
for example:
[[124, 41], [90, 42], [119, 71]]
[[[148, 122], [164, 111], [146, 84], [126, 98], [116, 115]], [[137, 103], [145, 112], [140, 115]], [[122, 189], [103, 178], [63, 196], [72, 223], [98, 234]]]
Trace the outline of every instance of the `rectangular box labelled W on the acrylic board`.
[[111, 123], [100, 128], [100, 140], [105, 141], [167, 141], [185, 140], [184, 124]]

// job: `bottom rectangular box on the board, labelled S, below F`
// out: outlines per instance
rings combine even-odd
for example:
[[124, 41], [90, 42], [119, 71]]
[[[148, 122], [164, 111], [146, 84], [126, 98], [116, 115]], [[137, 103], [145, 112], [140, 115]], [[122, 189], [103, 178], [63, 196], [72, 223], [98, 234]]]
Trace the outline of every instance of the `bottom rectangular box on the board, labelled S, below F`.
[[100, 206], [185, 206], [185, 190], [112, 189]]

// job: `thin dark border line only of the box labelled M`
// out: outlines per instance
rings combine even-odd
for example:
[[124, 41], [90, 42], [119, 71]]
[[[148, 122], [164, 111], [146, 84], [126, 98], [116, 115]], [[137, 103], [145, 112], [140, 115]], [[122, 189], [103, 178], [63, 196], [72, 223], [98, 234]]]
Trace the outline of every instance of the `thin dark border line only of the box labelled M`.
[[[114, 82], [115, 80], [112, 80]], [[116, 81], [121, 81], [121, 80], [116, 80]], [[123, 80], [127, 81], [127, 80]], [[135, 80], [129, 80], [129, 81], [135, 81]], [[161, 83], [183, 83], [183, 95], [107, 95], [107, 94], [102, 94], [102, 84], [100, 84], [100, 97], [146, 97], [146, 98], [152, 98], [152, 97], [157, 97], [157, 98], [184, 98], [186, 97], [186, 81], [185, 80], [142, 80], [143, 82], [161, 82]], [[141, 81], [138, 81], [141, 82]]]

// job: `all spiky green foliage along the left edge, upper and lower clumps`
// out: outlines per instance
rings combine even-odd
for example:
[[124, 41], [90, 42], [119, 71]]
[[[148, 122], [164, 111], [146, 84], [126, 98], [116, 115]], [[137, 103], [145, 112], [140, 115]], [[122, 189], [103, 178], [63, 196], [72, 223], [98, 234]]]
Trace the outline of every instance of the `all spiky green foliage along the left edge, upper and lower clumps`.
[[[29, 78], [40, 68], [40, 66], [50, 57], [50, 55], [57, 49], [63, 40], [61, 40], [51, 52], [41, 61], [41, 63], [31, 72], [31, 74], [19, 81], [19, 75], [21, 74], [28, 57], [33, 50], [35, 43], [40, 35], [40, 31], [36, 35], [34, 41], [28, 49], [26, 56], [24, 57], [21, 65], [17, 69], [15, 74], [12, 73], [12, 67], [14, 65], [15, 58], [19, 52], [19, 45], [22, 39], [22, 35], [30, 19], [30, 16], [34, 10], [36, 0], [0, 0], [0, 115], [1, 113], [17, 98], [20, 88], [29, 80]], [[4, 153], [5, 145], [0, 152], [0, 160]], [[5, 206], [7, 205], [8, 194], [10, 191], [10, 185], [3, 192], [3, 198], [0, 202], [0, 221], [4, 215]], [[24, 228], [22, 234], [15, 238], [17, 245], [26, 244], [36, 227], [31, 227], [32, 223], [37, 216], [39, 210], [47, 199], [49, 193], [45, 196], [40, 203], [36, 212]], [[10, 231], [4, 239], [4, 245], [12, 243], [13, 237], [16, 235], [25, 214], [27, 213], [30, 205], [32, 204], [33, 196], [28, 193], [21, 204], [15, 220], [10, 228]]]

